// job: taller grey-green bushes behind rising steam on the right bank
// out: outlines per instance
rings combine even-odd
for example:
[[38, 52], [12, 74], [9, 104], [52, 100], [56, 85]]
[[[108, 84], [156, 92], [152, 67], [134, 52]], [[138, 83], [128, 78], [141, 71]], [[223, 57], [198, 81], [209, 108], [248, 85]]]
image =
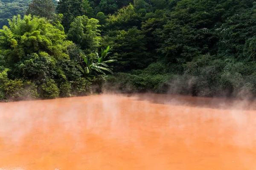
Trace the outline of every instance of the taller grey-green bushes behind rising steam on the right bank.
[[[256, 94], [255, 64], [233, 58], [215, 59], [209, 54], [195, 57], [184, 65], [184, 74], [169, 82], [172, 93], [196, 96], [248, 96]], [[242, 94], [244, 93], [244, 94]]]

